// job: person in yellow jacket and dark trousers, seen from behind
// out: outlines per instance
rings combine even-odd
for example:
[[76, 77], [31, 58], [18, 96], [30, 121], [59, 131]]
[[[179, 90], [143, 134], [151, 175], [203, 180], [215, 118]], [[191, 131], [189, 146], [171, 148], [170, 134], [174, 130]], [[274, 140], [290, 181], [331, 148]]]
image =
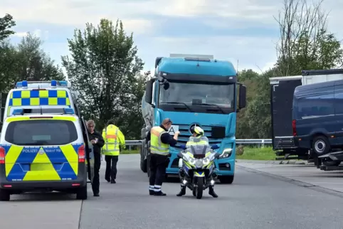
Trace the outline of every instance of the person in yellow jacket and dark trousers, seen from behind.
[[102, 137], [105, 140], [105, 145], [102, 147], [102, 154], [105, 154], [106, 161], [105, 180], [116, 183], [117, 162], [120, 150], [125, 149], [125, 137], [113, 120], [107, 122], [107, 127], [102, 130]]

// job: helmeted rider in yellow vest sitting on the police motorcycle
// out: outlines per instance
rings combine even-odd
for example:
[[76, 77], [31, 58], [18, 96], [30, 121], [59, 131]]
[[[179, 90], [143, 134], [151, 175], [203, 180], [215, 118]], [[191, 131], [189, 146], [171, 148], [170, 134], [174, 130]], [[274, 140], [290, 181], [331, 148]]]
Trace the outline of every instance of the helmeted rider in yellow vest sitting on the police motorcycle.
[[[209, 139], [204, 136], [204, 129], [201, 129], [201, 127], [191, 127], [191, 134], [192, 136], [189, 137], [188, 142], [186, 143], [186, 147], [189, 148], [191, 146], [201, 146], [205, 145], [207, 147], [210, 147]], [[181, 177], [181, 176], [180, 176]], [[184, 186], [184, 183], [181, 182], [181, 191], [176, 194], [176, 196], [184, 196], [186, 195], [186, 186]], [[213, 196], [214, 198], [217, 198], [218, 195], [214, 192], [213, 186], [209, 186], [209, 195]]]

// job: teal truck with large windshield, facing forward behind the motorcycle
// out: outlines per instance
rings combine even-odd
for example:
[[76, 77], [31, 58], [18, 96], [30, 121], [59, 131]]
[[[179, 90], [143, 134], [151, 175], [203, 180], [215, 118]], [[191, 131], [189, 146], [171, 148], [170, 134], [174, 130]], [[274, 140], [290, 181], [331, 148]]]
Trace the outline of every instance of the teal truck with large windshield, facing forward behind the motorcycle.
[[[237, 99], [239, 98], [239, 102]], [[223, 159], [216, 159], [221, 183], [232, 183], [236, 159], [236, 113], [246, 107], [246, 86], [237, 82], [232, 63], [213, 58], [157, 58], [154, 78], [147, 81], [142, 99], [141, 169], [149, 176], [149, 130], [171, 118], [169, 134], [179, 131], [178, 144], [170, 147], [167, 176], [179, 173], [177, 154], [197, 125], [204, 129], [209, 144], [216, 144]], [[232, 150], [230, 150], [232, 149]]]

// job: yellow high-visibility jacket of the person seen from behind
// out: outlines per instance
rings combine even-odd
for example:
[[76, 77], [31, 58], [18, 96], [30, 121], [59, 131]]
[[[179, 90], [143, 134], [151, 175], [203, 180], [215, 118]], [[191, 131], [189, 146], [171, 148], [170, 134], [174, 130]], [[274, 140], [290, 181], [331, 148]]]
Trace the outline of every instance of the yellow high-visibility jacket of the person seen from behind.
[[125, 148], [125, 137], [120, 129], [110, 124], [102, 130], [102, 137], [105, 141], [102, 147], [102, 154], [108, 156], [118, 156], [120, 154], [120, 146]]

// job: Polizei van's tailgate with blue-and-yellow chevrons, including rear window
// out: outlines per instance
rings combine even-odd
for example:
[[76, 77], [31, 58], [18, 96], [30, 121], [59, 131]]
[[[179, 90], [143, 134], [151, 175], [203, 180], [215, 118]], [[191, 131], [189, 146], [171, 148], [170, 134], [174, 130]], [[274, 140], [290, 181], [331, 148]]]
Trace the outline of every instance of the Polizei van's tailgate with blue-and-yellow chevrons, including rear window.
[[78, 176], [78, 133], [72, 121], [29, 119], [9, 123], [5, 135], [8, 181], [63, 181]]

